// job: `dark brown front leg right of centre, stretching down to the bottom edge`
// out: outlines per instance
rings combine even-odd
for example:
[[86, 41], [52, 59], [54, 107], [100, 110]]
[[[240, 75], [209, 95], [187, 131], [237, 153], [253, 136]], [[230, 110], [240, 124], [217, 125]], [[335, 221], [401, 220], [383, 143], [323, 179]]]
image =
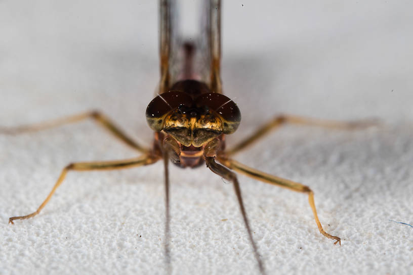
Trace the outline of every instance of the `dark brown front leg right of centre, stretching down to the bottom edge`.
[[237, 179], [235, 173], [230, 171], [229, 169], [227, 169], [223, 165], [216, 163], [214, 157], [205, 157], [205, 162], [206, 162], [206, 166], [208, 166], [208, 168], [210, 168], [211, 171], [213, 171], [214, 173], [216, 173], [219, 176], [222, 176], [223, 178], [225, 178], [227, 180], [232, 181], [232, 184], [234, 185], [235, 194], [236, 194], [237, 199], [238, 199], [239, 208], [241, 210], [242, 218], [244, 219], [245, 227], [246, 227], [246, 230], [248, 232], [248, 236], [250, 237], [251, 244], [253, 246], [254, 255], [255, 255], [255, 258], [257, 259], [257, 262], [258, 262], [258, 267], [260, 268], [261, 273], [265, 274], [264, 266], [261, 262], [261, 259], [260, 259], [259, 255], [258, 255], [257, 245], [255, 244], [254, 239], [253, 239], [253, 235], [251, 233], [250, 223], [248, 221], [248, 218], [246, 217], [244, 204], [242, 202], [241, 189], [239, 187], [239, 182], [238, 182], [238, 179]]

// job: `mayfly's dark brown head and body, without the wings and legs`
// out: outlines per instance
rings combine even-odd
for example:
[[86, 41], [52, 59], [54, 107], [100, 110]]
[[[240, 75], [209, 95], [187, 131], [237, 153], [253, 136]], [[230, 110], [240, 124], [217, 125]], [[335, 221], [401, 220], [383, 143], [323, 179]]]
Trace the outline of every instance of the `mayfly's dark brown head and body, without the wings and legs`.
[[155, 148], [159, 142], [167, 143], [172, 149], [169, 156], [174, 164], [197, 167], [204, 162], [205, 147], [212, 140], [217, 144], [213, 156], [225, 149], [224, 133], [236, 130], [241, 114], [236, 104], [222, 95], [221, 89], [216, 93], [213, 86], [198, 80], [202, 72], [194, 68], [206, 66], [195, 66], [195, 45], [185, 42], [177, 50], [183, 52], [180, 63], [183, 73], [166, 77], [177, 82], [170, 87], [169, 83], [161, 85], [164, 90], [149, 103], [146, 117], [156, 131]]

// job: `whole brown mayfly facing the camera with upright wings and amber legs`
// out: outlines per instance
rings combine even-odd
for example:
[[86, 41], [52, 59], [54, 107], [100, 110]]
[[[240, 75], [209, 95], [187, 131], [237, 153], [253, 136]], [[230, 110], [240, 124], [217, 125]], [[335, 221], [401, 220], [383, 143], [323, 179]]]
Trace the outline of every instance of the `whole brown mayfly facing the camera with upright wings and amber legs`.
[[160, 81], [155, 98], [146, 109], [146, 120], [154, 130], [154, 140], [150, 148], [136, 143], [112, 120], [101, 112], [92, 111], [53, 121], [29, 126], [1, 128], [3, 133], [20, 133], [43, 130], [62, 124], [92, 119], [108, 130], [119, 141], [141, 153], [141, 156], [115, 161], [74, 162], [63, 168], [51, 192], [33, 213], [13, 216], [15, 220], [37, 215], [50, 201], [69, 171], [114, 170], [150, 165], [157, 161], [164, 164], [164, 188], [166, 192], [166, 222], [164, 250], [170, 266], [170, 194], [169, 161], [185, 167], [206, 164], [213, 173], [232, 182], [239, 204], [246, 232], [249, 237], [258, 268], [265, 273], [264, 264], [254, 242], [249, 219], [244, 209], [240, 185], [235, 172], [253, 177], [259, 181], [283, 187], [308, 196], [315, 222], [320, 233], [341, 244], [337, 236], [326, 233], [318, 219], [314, 204], [314, 194], [305, 185], [280, 178], [239, 163], [233, 155], [257, 142], [270, 130], [283, 124], [305, 124], [329, 128], [354, 128], [365, 123], [333, 122], [306, 119], [296, 116], [276, 116], [262, 125], [255, 133], [230, 148], [225, 149], [225, 135], [236, 131], [241, 114], [238, 106], [223, 94], [221, 81], [221, 3], [219, 0], [204, 1], [201, 27], [198, 37], [184, 39], [179, 28], [180, 16], [176, 1], [161, 0], [159, 8], [159, 54]]

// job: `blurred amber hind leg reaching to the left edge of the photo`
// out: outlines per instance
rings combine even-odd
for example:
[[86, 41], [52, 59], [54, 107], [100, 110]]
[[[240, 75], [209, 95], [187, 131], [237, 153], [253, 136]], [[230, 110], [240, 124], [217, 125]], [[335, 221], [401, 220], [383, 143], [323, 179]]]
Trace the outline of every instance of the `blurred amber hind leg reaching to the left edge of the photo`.
[[39, 130], [45, 130], [49, 129], [52, 127], [64, 125], [64, 124], [69, 124], [69, 123], [74, 123], [78, 122], [87, 118], [92, 118], [94, 121], [99, 123], [101, 126], [103, 126], [106, 130], [108, 130], [110, 133], [112, 133], [115, 138], [118, 140], [122, 141], [129, 147], [142, 152], [142, 153], [147, 153], [147, 149], [143, 148], [136, 142], [134, 142], [129, 136], [127, 136], [123, 131], [119, 129], [108, 117], [106, 117], [104, 114], [98, 112], [98, 111], [91, 111], [91, 112], [86, 112], [78, 115], [73, 115], [73, 116], [68, 116], [68, 117], [63, 117], [51, 121], [45, 121], [45, 122], [40, 122], [32, 125], [25, 125], [25, 126], [17, 126], [17, 127], [0, 127], [0, 133], [3, 134], [19, 134], [19, 133], [24, 133], [24, 132], [34, 132], [34, 131], [39, 131]]

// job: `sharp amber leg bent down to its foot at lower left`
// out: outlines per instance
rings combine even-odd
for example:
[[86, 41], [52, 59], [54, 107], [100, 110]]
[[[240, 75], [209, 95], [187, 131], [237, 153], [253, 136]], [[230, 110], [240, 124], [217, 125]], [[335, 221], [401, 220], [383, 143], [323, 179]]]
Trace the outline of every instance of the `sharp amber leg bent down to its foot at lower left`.
[[31, 214], [25, 216], [17, 216], [9, 218], [9, 223], [14, 224], [13, 220], [15, 219], [27, 219], [37, 215], [43, 207], [49, 202], [50, 198], [55, 193], [56, 189], [62, 184], [63, 180], [66, 177], [66, 174], [70, 170], [74, 171], [91, 171], [91, 170], [114, 170], [114, 169], [125, 169], [132, 168], [136, 166], [149, 165], [155, 163], [159, 158], [154, 156], [143, 156], [140, 158], [127, 159], [127, 160], [115, 160], [115, 161], [97, 161], [97, 162], [75, 162], [67, 165], [63, 168], [63, 171], [60, 173], [58, 180], [56, 181], [55, 186], [52, 191], [47, 196], [46, 200], [37, 208], [37, 210]]

